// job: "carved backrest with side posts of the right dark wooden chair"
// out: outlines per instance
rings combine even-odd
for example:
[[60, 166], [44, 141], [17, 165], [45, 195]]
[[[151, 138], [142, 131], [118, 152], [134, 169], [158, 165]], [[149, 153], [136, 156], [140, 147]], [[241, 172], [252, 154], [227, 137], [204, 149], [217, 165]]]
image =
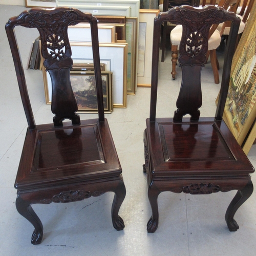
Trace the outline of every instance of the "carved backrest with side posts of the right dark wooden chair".
[[219, 24], [232, 20], [229, 40], [225, 52], [224, 70], [222, 75], [221, 91], [217, 105], [216, 119], [221, 120], [230, 79], [232, 56], [234, 53], [240, 18], [223, 8], [205, 6], [195, 9], [190, 6], [174, 7], [167, 12], [160, 13], [154, 20], [153, 58], [151, 80], [151, 111], [150, 121], [156, 119], [157, 85], [158, 85], [158, 59], [160, 26], [163, 22], [181, 24], [182, 38], [180, 41], [179, 63], [182, 69], [182, 82], [176, 102], [177, 110], [174, 121], [182, 121], [186, 114], [191, 121], [197, 121], [200, 116], [199, 108], [202, 105], [201, 70], [206, 61], [208, 51], [208, 33], [212, 24]]

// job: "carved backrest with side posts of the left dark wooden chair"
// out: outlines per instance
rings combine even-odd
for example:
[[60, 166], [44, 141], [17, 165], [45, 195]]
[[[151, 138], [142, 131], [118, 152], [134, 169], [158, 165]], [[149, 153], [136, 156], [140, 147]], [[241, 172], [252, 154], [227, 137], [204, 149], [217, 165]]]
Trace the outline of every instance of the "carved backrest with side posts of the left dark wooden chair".
[[62, 7], [54, 10], [33, 8], [29, 11], [24, 11], [19, 16], [10, 18], [6, 24], [6, 33], [14, 60], [20, 95], [30, 129], [35, 128], [35, 121], [14, 27], [36, 28], [39, 31], [41, 56], [44, 58], [44, 66], [49, 72], [52, 81], [51, 109], [55, 114], [53, 122], [55, 126], [61, 126], [62, 121], [66, 118], [72, 120], [73, 124], [80, 124], [79, 115], [76, 114], [77, 103], [70, 82], [70, 70], [73, 60], [68, 38], [68, 26], [76, 25], [80, 22], [88, 22], [91, 25], [98, 113], [99, 120], [104, 121], [97, 19], [91, 13], [83, 13], [77, 9]]

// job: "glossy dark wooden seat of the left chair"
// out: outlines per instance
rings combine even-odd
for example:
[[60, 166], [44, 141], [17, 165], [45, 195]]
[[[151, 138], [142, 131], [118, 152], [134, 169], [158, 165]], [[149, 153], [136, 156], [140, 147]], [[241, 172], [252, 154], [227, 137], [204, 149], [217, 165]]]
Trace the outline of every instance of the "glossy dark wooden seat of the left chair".
[[[58, 129], [52, 124], [37, 125], [35, 130], [28, 130], [16, 188], [54, 186], [121, 174], [106, 119], [83, 120], [78, 126], [69, 124]], [[103, 133], [108, 136], [101, 136]]]

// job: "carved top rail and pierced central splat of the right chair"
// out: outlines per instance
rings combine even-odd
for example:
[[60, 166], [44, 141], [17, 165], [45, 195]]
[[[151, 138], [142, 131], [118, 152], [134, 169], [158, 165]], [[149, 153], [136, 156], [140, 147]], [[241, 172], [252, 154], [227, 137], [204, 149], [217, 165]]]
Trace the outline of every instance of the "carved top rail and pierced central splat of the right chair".
[[[159, 22], [165, 19], [166, 14], [159, 15]], [[234, 14], [225, 14], [223, 9], [203, 8], [201, 11], [193, 7], [173, 8], [173, 13], [166, 20], [182, 25], [180, 41], [179, 63], [182, 73], [182, 84], [177, 99], [177, 108], [174, 120], [181, 121], [182, 116], [191, 115], [191, 120], [198, 121], [202, 105], [201, 70], [206, 62], [208, 52], [208, 37], [212, 25], [220, 24], [234, 17]], [[193, 77], [193, 79], [191, 79]]]

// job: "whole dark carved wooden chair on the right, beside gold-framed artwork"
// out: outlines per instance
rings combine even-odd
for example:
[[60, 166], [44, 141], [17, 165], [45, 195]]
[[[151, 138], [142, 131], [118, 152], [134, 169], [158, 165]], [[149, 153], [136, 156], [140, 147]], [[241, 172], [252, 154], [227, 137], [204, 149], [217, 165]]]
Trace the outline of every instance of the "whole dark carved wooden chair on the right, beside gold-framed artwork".
[[[179, 57], [182, 82], [174, 117], [156, 118], [160, 26], [166, 20], [183, 26]], [[200, 75], [206, 60], [208, 33], [212, 24], [225, 20], [231, 20], [232, 27], [216, 116], [201, 118]], [[157, 199], [162, 191], [199, 195], [237, 189], [225, 220], [230, 231], [239, 228], [233, 217], [252, 194], [249, 174], [254, 172], [254, 168], [222, 120], [239, 24], [240, 18], [234, 13], [215, 6], [201, 10], [190, 6], [175, 7], [160, 13], [154, 20], [151, 108], [144, 131], [143, 166], [152, 207], [148, 232], [155, 232], [158, 227]], [[190, 120], [183, 118], [186, 114], [190, 115]]]

